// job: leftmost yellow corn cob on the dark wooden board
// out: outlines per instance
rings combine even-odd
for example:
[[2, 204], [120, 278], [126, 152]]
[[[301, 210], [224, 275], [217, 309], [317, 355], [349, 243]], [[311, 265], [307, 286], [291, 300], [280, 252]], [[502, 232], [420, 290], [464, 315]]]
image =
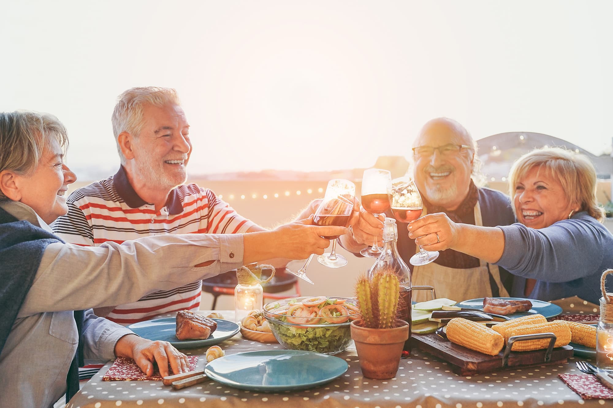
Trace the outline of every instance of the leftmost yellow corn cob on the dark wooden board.
[[497, 355], [504, 346], [504, 338], [489, 327], [455, 317], [447, 323], [447, 339], [471, 350]]

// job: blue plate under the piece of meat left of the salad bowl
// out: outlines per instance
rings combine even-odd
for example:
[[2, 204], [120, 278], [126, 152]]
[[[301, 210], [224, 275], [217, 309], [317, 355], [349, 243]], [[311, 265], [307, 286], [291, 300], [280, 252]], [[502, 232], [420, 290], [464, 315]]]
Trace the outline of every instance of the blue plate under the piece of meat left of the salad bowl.
[[217, 322], [217, 330], [213, 331], [208, 339], [179, 340], [175, 336], [177, 320], [174, 317], [166, 319], [145, 320], [134, 323], [128, 328], [140, 337], [150, 340], [164, 340], [170, 342], [177, 349], [197, 349], [198, 347], [213, 346], [234, 336], [240, 329], [238, 325], [229, 320], [213, 319]]

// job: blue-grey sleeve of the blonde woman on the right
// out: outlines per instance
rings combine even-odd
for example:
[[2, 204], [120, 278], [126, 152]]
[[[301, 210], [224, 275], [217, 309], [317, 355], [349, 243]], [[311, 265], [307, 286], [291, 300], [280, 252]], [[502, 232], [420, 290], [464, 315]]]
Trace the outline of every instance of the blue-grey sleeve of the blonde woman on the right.
[[497, 265], [512, 274], [545, 282], [568, 282], [595, 273], [603, 263], [611, 233], [587, 213], [543, 229], [499, 226], [504, 251]]

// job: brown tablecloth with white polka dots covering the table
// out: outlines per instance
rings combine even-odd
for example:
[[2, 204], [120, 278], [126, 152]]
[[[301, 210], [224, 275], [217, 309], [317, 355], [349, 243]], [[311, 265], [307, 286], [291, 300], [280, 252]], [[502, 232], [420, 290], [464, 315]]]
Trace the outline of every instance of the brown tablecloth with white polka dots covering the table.
[[[231, 319], [233, 312], [222, 312]], [[172, 316], [172, 315], [171, 315]], [[167, 317], [164, 315], [163, 317]], [[219, 344], [226, 354], [250, 350], [276, 350], [278, 343], [259, 343], [237, 334]], [[206, 349], [183, 350], [203, 356], [196, 368], [205, 365]], [[172, 390], [161, 381], [104, 382], [107, 363], [69, 402], [69, 408], [110, 407], [348, 407], [348, 408], [490, 408], [490, 407], [600, 407], [611, 401], [583, 400], [558, 378], [558, 374], [581, 374], [574, 365], [537, 366], [460, 377], [446, 362], [414, 349], [411, 358], [401, 360], [396, 377], [371, 380], [362, 377], [356, 350], [337, 357], [349, 364], [343, 376], [322, 387], [286, 393], [259, 393], [226, 387], [207, 381]], [[592, 361], [593, 362], [593, 361]]]

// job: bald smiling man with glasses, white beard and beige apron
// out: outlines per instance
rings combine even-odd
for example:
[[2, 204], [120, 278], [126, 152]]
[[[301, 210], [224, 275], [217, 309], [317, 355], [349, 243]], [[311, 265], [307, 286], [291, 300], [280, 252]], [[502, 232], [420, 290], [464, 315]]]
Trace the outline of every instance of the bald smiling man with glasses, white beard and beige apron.
[[[432, 119], [422, 127], [413, 142], [413, 176], [424, 202], [424, 215], [446, 213], [456, 222], [486, 227], [515, 222], [509, 197], [474, 184], [471, 176], [479, 176], [476, 152], [468, 130], [453, 119]], [[408, 224], [398, 224], [398, 252], [412, 268], [413, 285], [431, 285], [437, 297], [454, 300], [508, 296], [511, 274], [457, 251], [441, 251], [428, 265], [410, 265], [409, 258], [419, 247], [408, 237]], [[354, 240], [343, 236], [343, 246], [359, 251], [364, 247], [359, 244], [372, 242], [377, 227], [380, 229], [381, 221], [362, 210], [359, 222], [352, 227]], [[424, 298], [425, 293], [413, 294], [413, 300]]]

